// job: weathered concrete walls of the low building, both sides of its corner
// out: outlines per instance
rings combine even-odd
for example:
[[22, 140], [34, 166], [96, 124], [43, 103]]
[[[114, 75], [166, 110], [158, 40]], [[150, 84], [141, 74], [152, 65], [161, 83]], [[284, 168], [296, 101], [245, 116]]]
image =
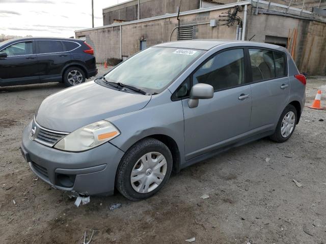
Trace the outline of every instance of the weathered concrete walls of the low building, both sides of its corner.
[[[232, 9], [233, 10], [233, 9]], [[232, 11], [231, 10], [231, 11]], [[180, 16], [180, 24], [196, 24], [219, 19], [221, 13], [228, 9], [188, 14]], [[259, 13], [254, 15], [255, 8], [248, 8], [246, 40], [265, 42], [268, 40], [285, 40], [289, 31], [297, 29], [295, 63], [301, 72], [311, 75], [326, 74], [326, 23], [304, 18], [294, 18], [274, 14]], [[243, 18], [243, 11], [238, 15]], [[168, 42], [171, 32], [172, 41], [177, 39], [178, 25], [176, 17], [151, 20], [122, 25], [122, 56], [128, 57], [140, 50], [140, 40], [146, 40], [147, 47]], [[234, 39], [236, 23], [231, 26], [210, 27], [208, 24], [194, 26], [194, 39]], [[76, 37], [86, 36], [95, 49], [97, 62], [107, 60], [110, 64], [119, 62], [120, 26], [103, 27], [76, 33]], [[113, 62], [113, 63], [112, 63]]]

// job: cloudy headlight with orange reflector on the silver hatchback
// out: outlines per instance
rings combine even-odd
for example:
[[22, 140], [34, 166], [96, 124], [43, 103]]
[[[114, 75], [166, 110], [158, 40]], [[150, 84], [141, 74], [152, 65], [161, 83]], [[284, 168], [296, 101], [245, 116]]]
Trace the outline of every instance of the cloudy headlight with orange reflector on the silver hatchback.
[[100, 120], [71, 132], [57, 142], [54, 147], [64, 151], [85, 151], [119, 135], [119, 130], [110, 122]]

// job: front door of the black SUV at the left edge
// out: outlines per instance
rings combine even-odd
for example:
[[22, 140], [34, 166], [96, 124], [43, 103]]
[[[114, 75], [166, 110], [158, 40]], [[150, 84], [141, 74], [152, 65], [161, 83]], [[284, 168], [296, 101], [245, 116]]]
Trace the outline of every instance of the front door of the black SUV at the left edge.
[[34, 41], [14, 43], [0, 52], [8, 55], [0, 58], [1, 85], [29, 84], [39, 81]]

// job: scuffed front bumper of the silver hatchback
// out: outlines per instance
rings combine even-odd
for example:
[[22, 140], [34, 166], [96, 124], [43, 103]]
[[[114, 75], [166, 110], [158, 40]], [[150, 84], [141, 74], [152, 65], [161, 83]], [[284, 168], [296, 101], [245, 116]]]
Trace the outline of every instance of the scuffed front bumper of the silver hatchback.
[[21, 153], [32, 171], [56, 189], [85, 195], [112, 195], [118, 165], [124, 152], [104, 143], [81, 153], [44, 146], [24, 129]]

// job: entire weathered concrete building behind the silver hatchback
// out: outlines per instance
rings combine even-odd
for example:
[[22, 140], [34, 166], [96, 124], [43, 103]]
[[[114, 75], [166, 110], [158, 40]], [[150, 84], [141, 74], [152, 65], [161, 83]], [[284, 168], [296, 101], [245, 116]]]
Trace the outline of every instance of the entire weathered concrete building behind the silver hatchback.
[[133, 0], [103, 9], [103, 26], [75, 35], [94, 47], [99, 63], [115, 65], [170, 40], [238, 39], [285, 46], [301, 72], [326, 74], [324, 5], [297, 8], [298, 1], [182, 0], [178, 21], [180, 0]]

